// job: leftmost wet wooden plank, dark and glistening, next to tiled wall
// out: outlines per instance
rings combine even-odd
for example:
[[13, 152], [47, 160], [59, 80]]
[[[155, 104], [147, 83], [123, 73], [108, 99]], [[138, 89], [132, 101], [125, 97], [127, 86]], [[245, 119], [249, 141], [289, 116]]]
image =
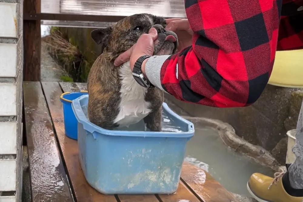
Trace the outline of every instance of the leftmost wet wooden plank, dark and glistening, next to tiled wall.
[[33, 202], [72, 202], [40, 82], [24, 82], [25, 127]]

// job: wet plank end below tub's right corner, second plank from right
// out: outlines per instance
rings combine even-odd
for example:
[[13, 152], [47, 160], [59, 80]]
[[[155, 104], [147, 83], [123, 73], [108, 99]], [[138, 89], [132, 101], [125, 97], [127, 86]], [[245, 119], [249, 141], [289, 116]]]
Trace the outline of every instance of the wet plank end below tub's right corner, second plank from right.
[[160, 194], [162, 202], [199, 202], [200, 200], [180, 180], [175, 194]]

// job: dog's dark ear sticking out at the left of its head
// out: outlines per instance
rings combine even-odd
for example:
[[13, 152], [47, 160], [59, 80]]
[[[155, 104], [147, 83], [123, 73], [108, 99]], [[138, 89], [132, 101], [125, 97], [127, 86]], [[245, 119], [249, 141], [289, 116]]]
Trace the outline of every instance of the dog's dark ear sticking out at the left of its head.
[[101, 45], [101, 52], [108, 45], [110, 35], [112, 33], [112, 27], [95, 29], [91, 32], [91, 37], [96, 44]]

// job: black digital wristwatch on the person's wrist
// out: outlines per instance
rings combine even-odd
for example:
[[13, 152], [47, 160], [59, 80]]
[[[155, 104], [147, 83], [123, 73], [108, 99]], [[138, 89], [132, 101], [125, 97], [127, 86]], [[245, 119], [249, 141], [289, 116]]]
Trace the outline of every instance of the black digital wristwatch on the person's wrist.
[[144, 55], [144, 56], [141, 56], [140, 58], [138, 58], [138, 60], [135, 62], [135, 65], [134, 65], [134, 68], [132, 71], [132, 75], [135, 78], [135, 80], [138, 82], [138, 84], [140, 84], [144, 88], [154, 88], [155, 87], [153, 84], [151, 84], [147, 80], [147, 78], [142, 74], [142, 71], [141, 71], [141, 66], [142, 66], [143, 61], [149, 57], [151, 57], [151, 56]]

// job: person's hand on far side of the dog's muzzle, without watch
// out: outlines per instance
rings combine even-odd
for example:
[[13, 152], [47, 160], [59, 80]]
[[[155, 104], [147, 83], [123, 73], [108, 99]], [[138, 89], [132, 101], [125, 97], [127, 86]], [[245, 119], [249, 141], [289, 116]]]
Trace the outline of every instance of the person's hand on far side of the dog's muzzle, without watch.
[[173, 31], [178, 36], [178, 51], [191, 46], [191, 38], [194, 32], [192, 31], [188, 19], [169, 18], [166, 19], [166, 30]]

